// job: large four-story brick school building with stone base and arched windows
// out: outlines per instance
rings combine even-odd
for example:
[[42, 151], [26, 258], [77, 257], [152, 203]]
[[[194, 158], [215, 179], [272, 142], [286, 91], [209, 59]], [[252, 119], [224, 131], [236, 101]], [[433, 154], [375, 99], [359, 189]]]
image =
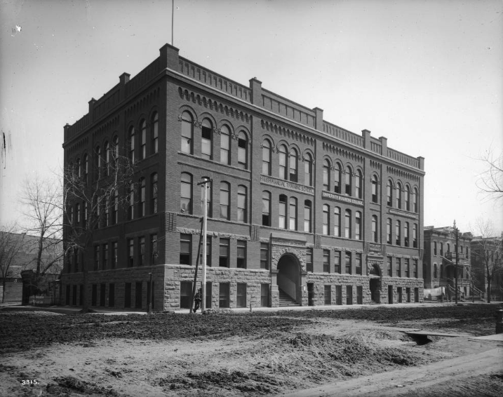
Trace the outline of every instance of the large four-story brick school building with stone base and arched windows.
[[[65, 126], [65, 165], [91, 175], [111, 142], [135, 159], [139, 189], [83, 254], [92, 306], [145, 309], [152, 272], [154, 309], [187, 307], [204, 177], [207, 307], [277, 307], [280, 292], [302, 305], [422, 300], [424, 159], [385, 137], [351, 133], [166, 44]], [[67, 304], [81, 304], [84, 260], [67, 261]]]

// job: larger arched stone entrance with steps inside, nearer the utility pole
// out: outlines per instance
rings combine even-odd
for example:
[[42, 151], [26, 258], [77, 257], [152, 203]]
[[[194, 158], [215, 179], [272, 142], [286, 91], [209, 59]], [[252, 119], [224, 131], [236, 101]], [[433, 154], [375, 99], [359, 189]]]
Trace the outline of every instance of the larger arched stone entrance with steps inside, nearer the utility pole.
[[[299, 261], [295, 255], [285, 254], [278, 261], [276, 283], [280, 297], [291, 298], [291, 303], [302, 304], [302, 274]], [[281, 304], [281, 302], [280, 302]]]

